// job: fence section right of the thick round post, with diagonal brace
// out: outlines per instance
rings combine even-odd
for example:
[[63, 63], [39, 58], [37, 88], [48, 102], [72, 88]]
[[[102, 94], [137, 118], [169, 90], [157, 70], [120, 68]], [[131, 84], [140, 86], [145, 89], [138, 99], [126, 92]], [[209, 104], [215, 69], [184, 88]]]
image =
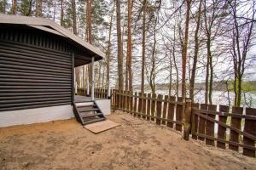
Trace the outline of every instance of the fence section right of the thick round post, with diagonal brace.
[[256, 109], [232, 107], [231, 113], [227, 105], [219, 105], [218, 111], [216, 109], [217, 105], [201, 104], [200, 109], [195, 105], [192, 109], [192, 138], [222, 149], [228, 145], [230, 150], [240, 149], [243, 155], [255, 157]]

